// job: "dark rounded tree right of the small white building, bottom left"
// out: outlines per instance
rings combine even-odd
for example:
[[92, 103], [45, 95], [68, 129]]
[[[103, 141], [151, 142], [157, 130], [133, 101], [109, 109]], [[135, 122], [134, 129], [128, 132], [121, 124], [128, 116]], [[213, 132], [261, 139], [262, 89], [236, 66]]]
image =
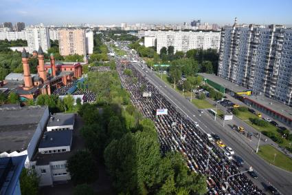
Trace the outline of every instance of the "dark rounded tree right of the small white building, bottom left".
[[79, 150], [67, 161], [74, 184], [92, 183], [98, 179], [98, 165], [88, 150]]

